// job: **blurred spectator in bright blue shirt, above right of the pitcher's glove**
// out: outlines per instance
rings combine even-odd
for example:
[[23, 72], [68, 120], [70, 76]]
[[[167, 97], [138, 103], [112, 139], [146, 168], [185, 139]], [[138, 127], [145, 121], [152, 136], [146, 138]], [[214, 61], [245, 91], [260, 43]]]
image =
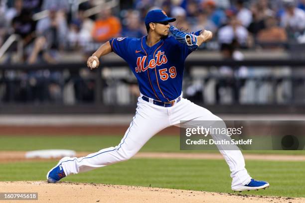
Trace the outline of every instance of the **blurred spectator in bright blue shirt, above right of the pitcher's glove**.
[[216, 7], [213, 0], [203, 1], [202, 9], [210, 17], [210, 20], [217, 26], [220, 27], [226, 22], [226, 15], [223, 10]]

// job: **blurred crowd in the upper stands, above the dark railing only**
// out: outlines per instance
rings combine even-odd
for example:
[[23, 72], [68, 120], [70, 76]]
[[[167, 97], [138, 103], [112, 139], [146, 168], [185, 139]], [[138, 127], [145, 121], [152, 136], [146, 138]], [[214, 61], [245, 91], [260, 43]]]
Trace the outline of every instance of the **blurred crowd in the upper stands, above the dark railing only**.
[[175, 25], [184, 30], [211, 30], [217, 42], [207, 47], [211, 49], [305, 43], [305, 0], [134, 0], [120, 5], [105, 6], [104, 0], [1, 0], [0, 45], [16, 34], [23, 42], [23, 62], [56, 63], [59, 51], [88, 54], [112, 37], [145, 35], [144, 17], [153, 8], [177, 18]]

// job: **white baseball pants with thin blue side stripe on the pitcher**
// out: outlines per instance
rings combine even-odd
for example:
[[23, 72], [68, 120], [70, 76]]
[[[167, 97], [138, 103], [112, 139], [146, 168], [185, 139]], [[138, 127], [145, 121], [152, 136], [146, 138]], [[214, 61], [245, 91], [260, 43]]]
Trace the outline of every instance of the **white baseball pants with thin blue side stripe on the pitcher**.
[[[156, 133], [171, 126], [179, 126], [180, 120], [221, 120], [206, 108], [198, 106], [186, 99], [181, 99], [171, 107], [162, 107], [138, 99], [138, 107], [129, 128], [121, 142], [115, 147], [101, 149], [86, 157], [71, 157], [62, 162], [66, 175], [90, 171], [99, 167], [126, 161], [132, 158], [142, 146]], [[213, 136], [215, 139], [215, 136]], [[245, 169], [245, 161], [241, 151], [221, 150], [217, 146], [229, 165], [232, 177], [232, 190], [250, 182], [251, 177]]]

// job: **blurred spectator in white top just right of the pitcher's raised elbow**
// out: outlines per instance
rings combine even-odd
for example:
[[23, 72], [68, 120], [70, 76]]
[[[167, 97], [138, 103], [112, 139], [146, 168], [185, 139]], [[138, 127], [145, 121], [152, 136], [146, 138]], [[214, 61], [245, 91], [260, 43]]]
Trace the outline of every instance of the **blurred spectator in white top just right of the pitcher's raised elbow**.
[[241, 25], [235, 15], [232, 15], [229, 24], [219, 29], [218, 41], [220, 44], [231, 44], [234, 40], [240, 47], [248, 46], [248, 30]]

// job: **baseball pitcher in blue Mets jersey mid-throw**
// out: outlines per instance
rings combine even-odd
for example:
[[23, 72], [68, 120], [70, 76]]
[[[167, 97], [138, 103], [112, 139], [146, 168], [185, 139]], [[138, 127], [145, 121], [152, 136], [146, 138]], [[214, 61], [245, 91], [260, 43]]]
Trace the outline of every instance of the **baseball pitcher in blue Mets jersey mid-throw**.
[[[147, 13], [145, 24], [148, 35], [141, 38], [112, 38], [89, 57], [90, 69], [99, 66], [99, 58], [115, 52], [130, 66], [138, 79], [141, 96], [136, 114], [121, 142], [86, 157], [64, 157], [47, 173], [49, 183], [56, 183], [71, 174], [90, 171], [133, 157], [157, 132], [183, 121], [222, 121], [209, 110], [182, 97], [182, 76], [186, 57], [202, 43], [212, 38], [207, 30], [186, 33], [169, 22], [175, 21], [163, 10]], [[172, 36], [168, 36], [169, 32]], [[212, 135], [217, 139], [216, 135]], [[252, 179], [241, 151], [223, 150], [217, 146], [226, 160], [232, 177], [234, 191], [265, 189], [269, 183]]]

